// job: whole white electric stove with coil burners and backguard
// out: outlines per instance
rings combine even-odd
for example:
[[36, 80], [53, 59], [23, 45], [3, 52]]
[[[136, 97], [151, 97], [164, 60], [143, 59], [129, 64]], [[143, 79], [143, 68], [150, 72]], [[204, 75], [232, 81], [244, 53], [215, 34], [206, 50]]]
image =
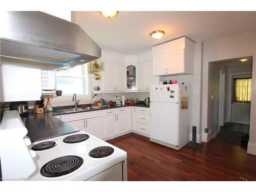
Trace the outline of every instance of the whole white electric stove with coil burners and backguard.
[[[83, 131], [34, 143], [25, 142], [27, 129], [16, 115], [7, 112], [1, 124], [3, 137], [0, 144], [5, 146], [1, 151], [3, 180], [127, 180], [126, 152], [120, 148]], [[17, 143], [4, 139], [9, 138], [9, 134], [16, 135]], [[8, 145], [10, 148], [6, 147]], [[14, 163], [17, 159], [23, 166]]]

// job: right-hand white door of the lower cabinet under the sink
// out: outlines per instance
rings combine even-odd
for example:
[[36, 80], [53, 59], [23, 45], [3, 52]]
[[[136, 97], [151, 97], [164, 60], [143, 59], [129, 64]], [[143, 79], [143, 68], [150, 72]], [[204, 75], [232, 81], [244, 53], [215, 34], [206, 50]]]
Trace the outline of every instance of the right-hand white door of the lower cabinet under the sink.
[[103, 127], [102, 127], [102, 118], [96, 117], [92, 119], [85, 120], [85, 131], [98, 137], [99, 139], [103, 138]]

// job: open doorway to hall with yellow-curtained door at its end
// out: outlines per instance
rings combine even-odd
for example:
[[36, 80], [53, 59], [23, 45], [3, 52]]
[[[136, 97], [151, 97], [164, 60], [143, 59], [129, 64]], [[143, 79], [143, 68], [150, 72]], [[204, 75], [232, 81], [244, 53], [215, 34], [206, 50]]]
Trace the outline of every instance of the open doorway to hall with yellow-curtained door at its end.
[[[241, 145], [249, 138], [252, 56], [209, 63], [208, 126], [212, 138]], [[246, 144], [247, 146], [247, 144]]]

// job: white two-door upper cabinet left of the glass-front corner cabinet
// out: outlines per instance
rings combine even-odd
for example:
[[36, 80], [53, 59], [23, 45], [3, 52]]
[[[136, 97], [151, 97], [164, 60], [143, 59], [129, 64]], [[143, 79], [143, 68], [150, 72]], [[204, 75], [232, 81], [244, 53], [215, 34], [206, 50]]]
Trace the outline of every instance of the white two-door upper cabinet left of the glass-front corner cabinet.
[[103, 60], [104, 91], [124, 90], [124, 64]]

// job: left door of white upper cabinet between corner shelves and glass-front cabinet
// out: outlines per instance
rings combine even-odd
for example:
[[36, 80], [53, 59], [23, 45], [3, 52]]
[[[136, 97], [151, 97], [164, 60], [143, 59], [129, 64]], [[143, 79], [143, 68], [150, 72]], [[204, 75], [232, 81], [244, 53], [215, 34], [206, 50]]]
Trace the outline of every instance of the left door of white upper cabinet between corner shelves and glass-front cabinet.
[[103, 62], [103, 81], [104, 81], [104, 90], [113, 91], [114, 90], [114, 79], [115, 79], [115, 63], [112, 61], [102, 61]]

